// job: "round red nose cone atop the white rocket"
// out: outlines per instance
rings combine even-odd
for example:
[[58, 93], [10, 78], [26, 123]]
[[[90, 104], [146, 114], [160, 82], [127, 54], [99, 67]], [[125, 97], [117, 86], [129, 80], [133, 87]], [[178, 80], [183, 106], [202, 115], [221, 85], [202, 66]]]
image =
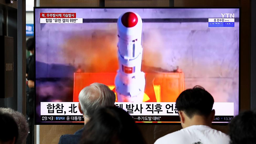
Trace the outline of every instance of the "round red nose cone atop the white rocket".
[[127, 12], [122, 16], [121, 22], [125, 27], [131, 28], [138, 23], [138, 17], [133, 12]]

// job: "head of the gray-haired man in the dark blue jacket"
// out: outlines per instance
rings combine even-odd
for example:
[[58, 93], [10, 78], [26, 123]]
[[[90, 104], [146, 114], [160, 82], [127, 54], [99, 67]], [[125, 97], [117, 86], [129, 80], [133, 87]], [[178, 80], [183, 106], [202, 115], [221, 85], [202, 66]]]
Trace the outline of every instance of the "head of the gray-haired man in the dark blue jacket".
[[[102, 83], [92, 83], [81, 90], [78, 96], [79, 111], [88, 119], [103, 106], [114, 106], [115, 93]], [[86, 120], [85, 120], [86, 121]]]

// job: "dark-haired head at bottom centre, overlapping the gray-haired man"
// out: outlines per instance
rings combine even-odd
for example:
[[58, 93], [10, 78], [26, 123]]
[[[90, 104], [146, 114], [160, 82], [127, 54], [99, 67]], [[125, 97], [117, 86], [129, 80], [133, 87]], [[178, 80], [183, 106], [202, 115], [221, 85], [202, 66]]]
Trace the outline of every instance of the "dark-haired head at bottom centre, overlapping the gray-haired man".
[[132, 117], [116, 106], [96, 111], [84, 127], [81, 144], [145, 143]]

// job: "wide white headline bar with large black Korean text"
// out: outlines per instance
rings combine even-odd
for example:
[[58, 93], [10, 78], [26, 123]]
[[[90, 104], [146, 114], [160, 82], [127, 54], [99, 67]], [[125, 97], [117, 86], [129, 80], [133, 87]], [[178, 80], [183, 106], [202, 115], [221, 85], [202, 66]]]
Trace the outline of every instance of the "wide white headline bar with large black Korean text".
[[[54, 109], [53, 109], [53, 104], [54, 104]], [[71, 110], [72, 104], [74, 104], [74, 107], [75, 107], [73, 110]], [[153, 114], [151, 111], [148, 111], [148, 110], [152, 110], [152, 104], [154, 106]], [[59, 105], [59, 107], [57, 107], [57, 105]], [[130, 109], [129, 111], [131, 111], [131, 109], [132, 109], [133, 113], [130, 113], [130, 115], [178, 115], [177, 109], [175, 109], [174, 102], [169, 102], [169, 103], [168, 102], [161, 102], [161, 103], [158, 103], [158, 102], [142, 102], [142, 103], [116, 102], [115, 105], [118, 107], [120, 105], [122, 105], [122, 108], [126, 111], [128, 109]], [[134, 107], [132, 107], [132, 105]], [[155, 111], [155, 110], [159, 110], [159, 107], [160, 107], [159, 105], [161, 105], [160, 110], [162, 110], [162, 111], [159, 111], [159, 113], [158, 113], [158, 111]], [[61, 108], [62, 106], [63, 106], [63, 108], [61, 111], [61, 109], [59, 109], [59, 108]], [[141, 106], [143, 109], [141, 109]], [[146, 109], [148, 106], [150, 106], [151, 109], [149, 109], [149, 108]], [[173, 107], [171, 107], [171, 106], [173, 106]], [[213, 105], [213, 109], [215, 109], [216, 116], [233, 116], [234, 115], [234, 103], [216, 102]], [[49, 112], [51, 112], [51, 110], [54, 110], [53, 113], [49, 113]], [[57, 113], [57, 110], [59, 113]], [[171, 112], [171, 113], [167, 113], [167, 110], [168, 110], [168, 112]], [[175, 113], [175, 111], [176, 111], [176, 113]], [[76, 112], [76, 113], [74, 113], [74, 112]], [[82, 114], [79, 112], [78, 102], [41, 102], [41, 115], [82, 115]]]

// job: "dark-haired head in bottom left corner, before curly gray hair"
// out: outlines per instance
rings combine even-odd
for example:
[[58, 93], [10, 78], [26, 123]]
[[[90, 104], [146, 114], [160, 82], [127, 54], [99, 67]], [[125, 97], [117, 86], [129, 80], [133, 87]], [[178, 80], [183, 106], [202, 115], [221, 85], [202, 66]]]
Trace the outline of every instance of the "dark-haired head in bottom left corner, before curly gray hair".
[[0, 143], [15, 144], [18, 138], [18, 126], [11, 115], [0, 112]]

